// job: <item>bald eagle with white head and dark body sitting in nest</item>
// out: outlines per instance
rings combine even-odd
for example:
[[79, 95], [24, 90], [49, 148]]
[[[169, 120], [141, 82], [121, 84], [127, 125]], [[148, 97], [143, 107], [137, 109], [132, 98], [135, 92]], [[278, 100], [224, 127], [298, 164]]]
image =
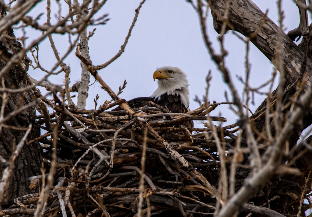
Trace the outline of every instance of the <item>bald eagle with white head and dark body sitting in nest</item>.
[[[130, 108], [140, 108], [149, 101], [167, 107], [172, 113], [186, 113], [189, 109], [189, 91], [186, 74], [178, 67], [163, 66], [153, 74], [158, 80], [158, 88], [150, 97], [138, 97], [128, 101]], [[121, 110], [115, 108], [113, 111]], [[193, 121], [185, 122], [187, 127], [193, 127]]]

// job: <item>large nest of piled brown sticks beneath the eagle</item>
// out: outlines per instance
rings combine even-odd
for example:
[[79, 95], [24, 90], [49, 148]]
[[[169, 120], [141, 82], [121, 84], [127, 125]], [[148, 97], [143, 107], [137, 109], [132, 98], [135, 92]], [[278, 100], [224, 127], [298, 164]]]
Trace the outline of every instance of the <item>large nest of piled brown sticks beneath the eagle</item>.
[[[222, 117], [210, 117], [211, 122], [204, 123], [204, 128], [186, 128], [183, 123], [207, 120], [207, 114], [218, 104], [203, 104], [184, 115], [151, 105], [134, 115], [123, 110], [105, 111], [113, 105], [83, 111], [54, 104], [52, 114], [41, 107], [43, 115], [37, 116], [37, 124], [47, 132], [30, 141], [40, 142], [43, 149], [46, 173], [30, 184], [40, 193], [17, 198], [7, 211], [23, 207], [19, 213], [33, 215], [33, 205], [41, 205], [39, 202], [46, 195], [44, 216], [62, 216], [65, 212], [69, 216], [138, 216], [138, 210], [145, 215], [211, 215], [217, 200], [222, 203], [222, 189], [217, 190], [220, 152], [216, 144], [226, 151], [223, 158], [230, 166], [236, 136], [232, 134], [235, 130], [229, 129], [236, 125], [217, 126], [226, 120]], [[241, 142], [242, 146], [246, 144]], [[245, 169], [240, 168], [237, 173], [243, 180], [248, 163], [242, 156], [237, 157], [236, 163], [244, 164]], [[42, 182], [49, 183], [49, 175], [53, 178], [50, 191], [41, 187]], [[269, 190], [255, 195], [255, 204], [265, 204], [276, 196], [270, 192], [282, 181], [269, 183]], [[242, 184], [237, 179], [236, 187]], [[295, 182], [287, 182], [286, 186], [301, 194]], [[284, 211], [289, 212], [298, 203], [295, 194], [286, 201], [280, 195], [287, 194], [280, 192], [279, 200], [274, 198]]]

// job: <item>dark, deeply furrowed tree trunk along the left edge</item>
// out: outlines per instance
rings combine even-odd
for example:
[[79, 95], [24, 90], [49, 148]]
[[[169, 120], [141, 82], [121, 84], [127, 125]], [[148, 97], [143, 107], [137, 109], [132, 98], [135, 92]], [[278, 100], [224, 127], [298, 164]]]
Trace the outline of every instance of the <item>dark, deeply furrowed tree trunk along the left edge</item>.
[[[3, 2], [2, 2], [3, 5]], [[5, 16], [4, 10], [1, 10], [1, 17]], [[7, 61], [16, 53], [22, 50], [22, 45], [19, 43], [13, 34], [13, 30], [10, 27], [4, 33], [4, 37], [0, 40], [0, 70], [6, 65]], [[27, 75], [29, 58], [27, 56], [21, 62], [12, 67], [6, 75], [4, 75], [1, 81], [4, 81], [4, 86], [11, 89], [25, 88], [30, 85], [30, 80]], [[2, 83], [2, 82], [0, 82]], [[1, 88], [3, 85], [0, 84]], [[1, 93], [2, 94], [2, 93]], [[32, 102], [33, 91], [27, 90], [22, 93], [14, 93], [8, 96], [7, 103], [4, 108], [4, 117], [14, 112], [17, 108], [21, 108], [24, 105]], [[0, 104], [3, 104], [2, 95], [0, 97]], [[0, 156], [8, 160], [11, 157], [12, 151], [15, 149], [15, 145], [21, 141], [25, 135], [25, 131], [18, 128], [28, 127], [29, 124], [33, 125], [31, 133], [28, 135], [27, 140], [32, 140], [40, 135], [40, 128], [34, 124], [36, 117], [35, 108], [31, 107], [23, 109], [16, 116], [10, 118], [4, 122], [8, 127], [3, 127], [0, 133]], [[10, 126], [15, 127], [10, 128]], [[19, 156], [15, 160], [15, 168], [12, 172], [10, 184], [6, 191], [4, 202], [13, 200], [18, 196], [34, 193], [34, 190], [29, 189], [29, 177], [40, 174], [41, 166], [41, 149], [39, 143], [34, 142], [29, 145], [25, 144]], [[3, 169], [7, 165], [0, 167], [1, 176]]]

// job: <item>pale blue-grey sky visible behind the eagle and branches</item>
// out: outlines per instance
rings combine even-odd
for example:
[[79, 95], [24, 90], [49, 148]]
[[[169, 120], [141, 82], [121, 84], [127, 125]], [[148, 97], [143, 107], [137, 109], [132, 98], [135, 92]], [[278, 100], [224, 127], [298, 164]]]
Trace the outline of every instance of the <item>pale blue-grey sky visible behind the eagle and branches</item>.
[[[52, 13], [57, 13], [56, 1], [52, 1]], [[61, 2], [61, 1], [60, 1]], [[109, 0], [96, 15], [100, 17], [109, 13], [110, 21], [104, 26], [96, 27], [95, 35], [89, 41], [90, 58], [94, 65], [103, 64], [114, 56], [124, 43], [124, 38], [134, 17], [134, 10], [139, 6], [140, 0]], [[265, 11], [269, 9], [268, 17], [277, 23], [277, 5], [271, 0], [255, 0], [258, 7]], [[62, 4], [62, 14], [67, 12], [66, 4]], [[36, 17], [41, 12], [45, 12], [46, 2], [42, 1], [36, 10], [32, 10], [31, 15]], [[299, 23], [298, 8], [293, 1], [283, 1], [285, 10], [286, 31], [294, 29]], [[54, 11], [53, 11], [54, 10]], [[46, 22], [43, 15], [41, 23]], [[92, 31], [90, 27], [88, 31]], [[215, 49], [219, 48], [217, 33], [213, 29], [212, 17], [209, 13], [207, 29], [210, 40]], [[27, 43], [32, 41], [38, 31], [27, 29], [29, 37]], [[21, 32], [15, 34], [20, 36]], [[68, 46], [67, 36], [53, 36], [59, 52], [65, 52]], [[236, 79], [236, 75], [244, 77], [245, 67], [245, 45], [228, 32], [225, 37], [225, 47], [229, 52], [226, 64], [232, 74], [237, 89], [242, 90], [242, 85]], [[30, 54], [28, 54], [31, 57]], [[268, 80], [272, 74], [273, 66], [270, 61], [253, 45], [250, 51], [251, 62], [251, 86], [256, 87]], [[50, 69], [55, 64], [51, 46], [48, 40], [40, 44], [40, 61], [46, 68]], [[80, 61], [72, 52], [64, 61], [71, 66], [71, 84], [80, 80]], [[181, 68], [187, 75], [190, 89], [190, 108], [195, 109], [198, 104], [193, 101], [195, 95], [200, 98], [205, 94], [205, 77], [209, 70], [212, 70], [212, 81], [209, 94], [210, 101], [224, 102], [224, 92], [228, 91], [224, 84], [220, 72], [211, 61], [207, 49], [204, 46], [199, 27], [198, 16], [193, 7], [184, 0], [147, 0], [140, 10], [138, 21], [132, 31], [125, 52], [115, 62], [107, 68], [100, 70], [99, 74], [105, 82], [114, 90], [118, 91], [119, 85], [126, 79], [128, 84], [124, 93], [120, 97], [129, 100], [140, 96], [149, 96], [157, 88], [157, 82], [153, 80], [153, 72], [156, 68], [171, 65]], [[29, 74], [40, 79], [44, 75], [39, 69], [29, 70]], [[64, 76], [58, 75], [49, 78], [54, 84], [64, 84]], [[91, 83], [94, 79], [91, 78]], [[110, 99], [109, 95], [99, 88], [95, 83], [90, 86], [87, 108], [94, 108], [93, 98], [100, 95], [99, 104]], [[230, 92], [228, 92], [230, 96]], [[255, 106], [250, 105], [254, 111], [263, 101], [264, 96], [256, 96]], [[228, 109], [228, 105], [219, 106], [212, 115], [222, 113], [228, 119], [227, 124], [234, 123], [236, 116]]]

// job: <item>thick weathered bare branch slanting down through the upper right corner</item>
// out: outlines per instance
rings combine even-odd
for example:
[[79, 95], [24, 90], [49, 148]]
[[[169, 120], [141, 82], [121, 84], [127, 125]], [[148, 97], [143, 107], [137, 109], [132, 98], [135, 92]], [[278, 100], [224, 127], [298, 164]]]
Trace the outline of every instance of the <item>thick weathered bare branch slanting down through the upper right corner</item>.
[[[225, 13], [227, 0], [211, 1], [213, 25], [217, 32], [220, 32], [222, 20], [219, 19]], [[266, 22], [261, 27], [263, 19]], [[246, 37], [250, 37], [250, 41], [277, 67], [276, 44], [279, 37], [279, 27], [266, 17], [266, 15], [250, 0], [231, 1], [229, 14], [229, 22], [235, 31], [240, 32]], [[254, 34], [256, 33], [256, 34]], [[286, 35], [282, 35], [283, 44], [283, 66], [285, 71], [285, 79], [289, 84], [293, 84], [300, 79], [300, 67], [302, 62], [302, 51], [297, 45]], [[307, 60], [305, 73], [302, 80], [304, 89], [310, 86], [310, 72], [312, 70], [311, 60]]]

